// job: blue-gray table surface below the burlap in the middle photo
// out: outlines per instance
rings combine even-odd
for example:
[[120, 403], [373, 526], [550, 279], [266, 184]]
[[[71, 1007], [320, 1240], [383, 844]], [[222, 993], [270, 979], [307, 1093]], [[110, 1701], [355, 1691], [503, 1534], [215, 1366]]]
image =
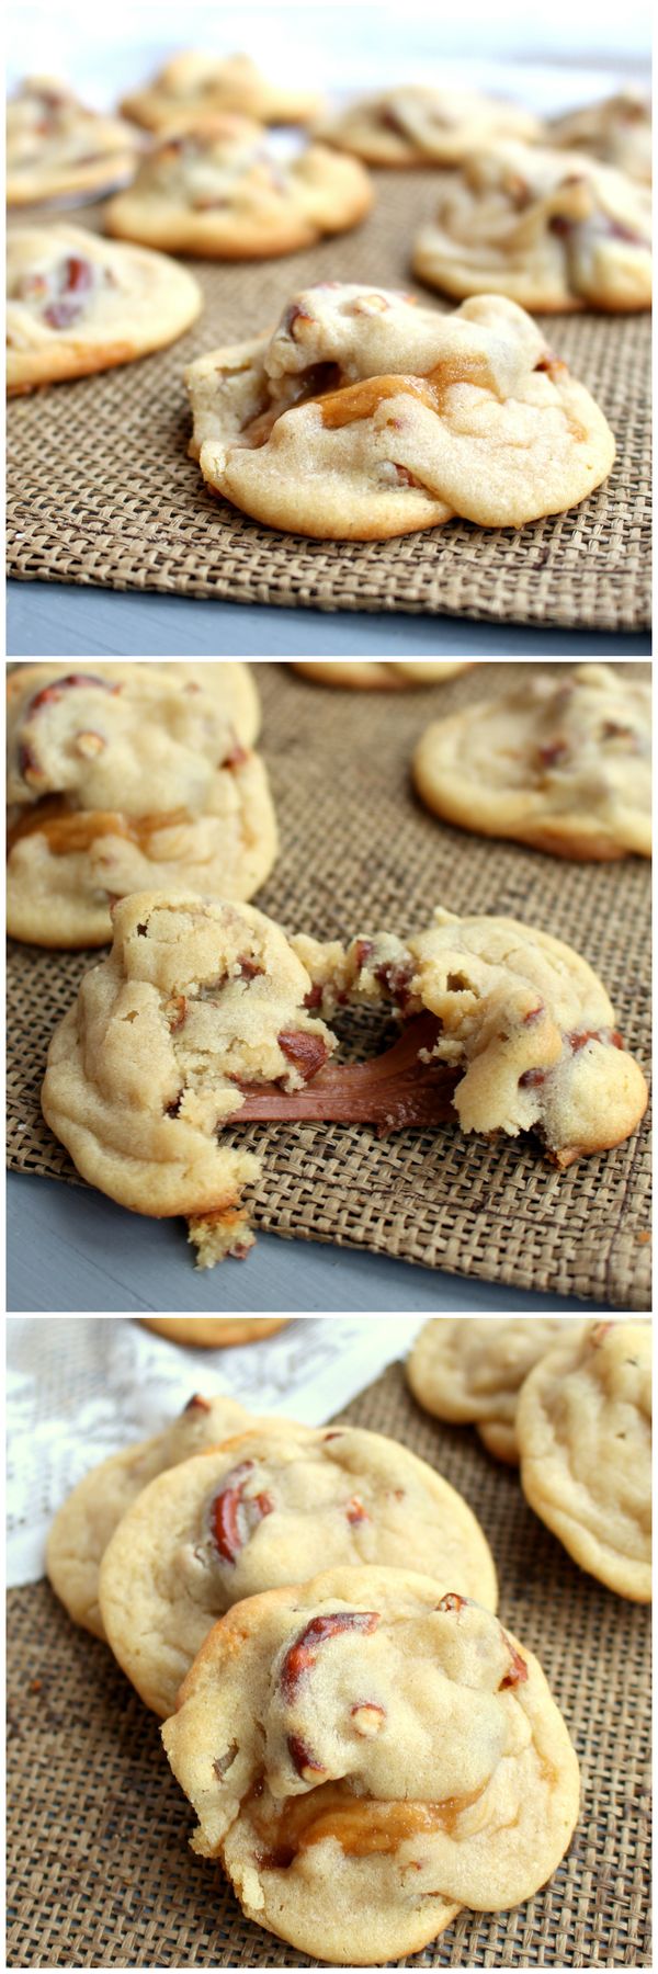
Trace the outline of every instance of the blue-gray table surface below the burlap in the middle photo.
[[200, 1271], [180, 1220], [144, 1220], [101, 1192], [26, 1173], [8, 1175], [6, 1250], [6, 1307], [16, 1315], [140, 1309], [160, 1315], [217, 1309], [231, 1315], [599, 1313], [597, 1303], [526, 1295], [389, 1255], [273, 1234], [259, 1234], [247, 1261]]

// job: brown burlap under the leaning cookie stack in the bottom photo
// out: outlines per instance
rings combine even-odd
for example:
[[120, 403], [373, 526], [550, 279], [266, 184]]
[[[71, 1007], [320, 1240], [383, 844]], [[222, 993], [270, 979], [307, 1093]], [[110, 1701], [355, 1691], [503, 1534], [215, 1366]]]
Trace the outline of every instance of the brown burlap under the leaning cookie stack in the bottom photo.
[[[330, 1321], [330, 1319], [328, 1319]], [[401, 1439], [466, 1494], [500, 1617], [537, 1654], [575, 1743], [567, 1858], [512, 1913], [466, 1913], [397, 1966], [650, 1966], [650, 1623], [587, 1577], [468, 1427], [429, 1419], [399, 1364], [342, 1413]], [[245, 1921], [194, 1858], [158, 1723], [45, 1583], [10, 1591], [8, 1966], [310, 1966]]]

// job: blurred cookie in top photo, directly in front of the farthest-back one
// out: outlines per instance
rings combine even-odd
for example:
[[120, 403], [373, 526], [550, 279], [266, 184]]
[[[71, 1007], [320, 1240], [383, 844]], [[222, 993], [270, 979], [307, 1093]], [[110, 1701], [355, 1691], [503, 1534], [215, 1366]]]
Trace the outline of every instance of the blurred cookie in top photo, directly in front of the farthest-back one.
[[281, 156], [261, 124], [225, 114], [164, 136], [111, 199], [107, 227], [166, 253], [273, 259], [344, 233], [371, 201], [356, 158], [302, 142]]

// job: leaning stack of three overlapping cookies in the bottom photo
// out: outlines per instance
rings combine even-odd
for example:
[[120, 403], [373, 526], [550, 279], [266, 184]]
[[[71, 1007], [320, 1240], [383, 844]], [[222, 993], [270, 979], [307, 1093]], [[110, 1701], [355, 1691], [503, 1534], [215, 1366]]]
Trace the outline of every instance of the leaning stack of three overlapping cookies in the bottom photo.
[[196, 1396], [75, 1488], [47, 1571], [166, 1719], [194, 1848], [302, 1952], [415, 1952], [559, 1863], [565, 1723], [470, 1508], [395, 1441]]

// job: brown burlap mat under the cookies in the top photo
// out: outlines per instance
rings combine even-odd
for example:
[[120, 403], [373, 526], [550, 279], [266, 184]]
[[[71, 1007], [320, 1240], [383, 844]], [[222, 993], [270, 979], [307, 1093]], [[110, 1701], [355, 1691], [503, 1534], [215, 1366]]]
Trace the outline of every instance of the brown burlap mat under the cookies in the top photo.
[[[322, 543], [259, 527], [204, 490], [186, 458], [190, 357], [265, 330], [308, 282], [409, 286], [411, 237], [435, 209], [437, 174], [375, 178], [375, 211], [354, 233], [283, 261], [190, 263], [206, 312], [172, 349], [10, 407], [12, 576], [322, 610], [601, 630], [650, 622], [648, 316], [543, 318], [618, 446], [609, 482], [571, 513], [520, 531], [451, 521], [397, 541]], [[85, 207], [79, 217], [101, 225], [101, 215]]]

